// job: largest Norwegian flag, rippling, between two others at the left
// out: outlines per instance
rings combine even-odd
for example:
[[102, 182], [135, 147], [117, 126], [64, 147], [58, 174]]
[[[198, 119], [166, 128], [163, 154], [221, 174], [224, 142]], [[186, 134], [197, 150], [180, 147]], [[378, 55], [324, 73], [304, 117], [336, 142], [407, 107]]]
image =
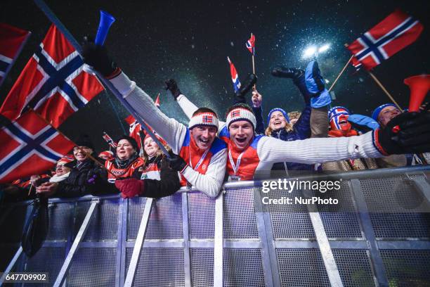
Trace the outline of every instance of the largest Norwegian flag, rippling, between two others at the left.
[[0, 113], [15, 120], [30, 107], [58, 127], [72, 113], [103, 91], [94, 75], [55, 25], [13, 85]]

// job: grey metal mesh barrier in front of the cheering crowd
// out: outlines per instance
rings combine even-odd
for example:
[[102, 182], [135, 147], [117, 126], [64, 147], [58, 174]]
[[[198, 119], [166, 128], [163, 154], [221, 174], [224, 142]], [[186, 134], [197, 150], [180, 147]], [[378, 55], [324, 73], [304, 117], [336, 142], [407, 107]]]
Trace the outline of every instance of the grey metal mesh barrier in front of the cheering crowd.
[[[1, 270], [48, 272], [44, 286], [429, 286], [430, 213], [415, 212], [428, 208], [429, 172], [336, 174], [340, 211], [263, 207], [259, 181], [227, 183], [216, 200], [194, 190], [56, 198], [32, 258], [20, 254], [30, 208], [11, 204], [0, 213]], [[374, 212], [381, 200], [406, 212]]]

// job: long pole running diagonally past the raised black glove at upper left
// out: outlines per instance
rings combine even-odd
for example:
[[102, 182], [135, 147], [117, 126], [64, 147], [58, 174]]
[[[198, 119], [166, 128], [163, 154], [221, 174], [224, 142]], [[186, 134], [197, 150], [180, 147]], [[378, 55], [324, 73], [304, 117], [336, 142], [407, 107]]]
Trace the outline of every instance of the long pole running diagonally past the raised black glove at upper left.
[[[76, 39], [74, 39], [73, 35], [69, 32], [69, 30], [67, 30], [65, 25], [63, 25], [63, 23], [61, 23], [60, 19], [57, 18], [57, 16], [46, 5], [46, 3], [43, 0], [34, 0], [34, 4], [36, 4], [37, 7], [39, 7], [39, 9], [42, 12], [44, 12], [46, 17], [49, 20], [51, 20], [51, 22], [54, 25], [56, 25], [58, 30], [60, 30], [60, 32], [63, 33], [64, 37], [70, 42], [70, 44], [72, 44], [74, 49], [76, 49], [78, 51], [78, 53], [81, 54], [82, 53], [81, 45], [79, 45], [79, 43], [76, 41]], [[128, 110], [129, 113], [131, 113], [131, 115], [133, 115], [133, 117], [139, 122], [139, 124], [141, 124], [141, 127], [143, 127], [143, 129], [145, 129], [145, 132], [147, 132], [150, 135], [150, 137], [152, 138], [152, 140], [155, 141], [155, 143], [159, 146], [159, 149], [164, 153], [164, 155], [169, 157], [169, 152], [167, 151], [167, 149], [164, 148], [162, 143], [157, 139], [157, 136], [155, 136], [155, 134], [152, 133], [150, 128], [145, 124], [145, 122], [138, 115], [138, 113], [136, 113], [136, 111], [133, 109], [133, 107], [131, 107], [131, 105], [124, 98], [122, 98], [122, 94], [119, 93], [119, 91], [114, 87], [114, 85], [108, 79], [103, 77], [103, 75], [101, 75], [97, 71], [94, 71], [94, 72], [97, 75], [98, 79], [100, 79], [100, 82], [102, 82], [105, 85], [105, 87], [110, 89], [112, 94], [114, 94], [114, 96], [118, 99], [118, 101], [120, 103], [122, 103], [122, 106], [124, 106], [124, 108], [126, 108], [126, 110]]]

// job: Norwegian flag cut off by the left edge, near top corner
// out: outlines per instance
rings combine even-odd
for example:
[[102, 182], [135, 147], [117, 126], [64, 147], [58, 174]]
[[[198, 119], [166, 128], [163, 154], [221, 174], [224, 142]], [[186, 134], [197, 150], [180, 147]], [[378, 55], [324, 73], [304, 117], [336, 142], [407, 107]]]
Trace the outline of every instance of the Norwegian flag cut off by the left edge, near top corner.
[[0, 86], [18, 58], [31, 32], [0, 23]]

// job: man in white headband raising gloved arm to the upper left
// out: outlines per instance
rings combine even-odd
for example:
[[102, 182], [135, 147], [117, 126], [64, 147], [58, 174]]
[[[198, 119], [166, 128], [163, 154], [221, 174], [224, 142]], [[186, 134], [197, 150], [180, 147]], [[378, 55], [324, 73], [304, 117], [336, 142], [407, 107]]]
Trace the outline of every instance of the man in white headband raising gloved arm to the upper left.
[[[131, 82], [120, 68], [113, 65], [105, 47], [87, 42], [83, 56], [88, 65], [110, 79], [124, 98], [133, 92], [138, 93], [139, 104], [136, 106], [136, 112], [171, 147], [174, 155], [170, 155], [167, 160], [174, 170], [181, 173], [181, 185], [195, 186], [211, 198], [218, 196], [226, 173], [227, 153], [226, 144], [216, 137], [216, 113], [210, 108], [201, 108], [193, 115], [188, 127], [185, 127], [164, 115], [148, 94], [136, 87], [135, 82]], [[167, 82], [167, 87], [170, 84]], [[180, 94], [181, 91], [174, 90], [176, 98]], [[131, 103], [131, 106], [134, 104]]]

